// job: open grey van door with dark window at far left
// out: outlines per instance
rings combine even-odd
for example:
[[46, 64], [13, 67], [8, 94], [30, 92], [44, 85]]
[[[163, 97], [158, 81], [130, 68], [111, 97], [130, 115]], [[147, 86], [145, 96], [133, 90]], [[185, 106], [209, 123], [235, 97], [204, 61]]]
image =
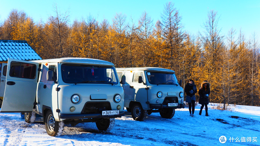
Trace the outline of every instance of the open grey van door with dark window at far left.
[[36, 97], [39, 63], [8, 58], [0, 113], [29, 113]]

